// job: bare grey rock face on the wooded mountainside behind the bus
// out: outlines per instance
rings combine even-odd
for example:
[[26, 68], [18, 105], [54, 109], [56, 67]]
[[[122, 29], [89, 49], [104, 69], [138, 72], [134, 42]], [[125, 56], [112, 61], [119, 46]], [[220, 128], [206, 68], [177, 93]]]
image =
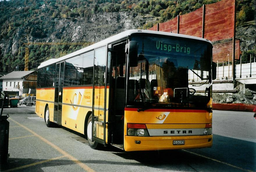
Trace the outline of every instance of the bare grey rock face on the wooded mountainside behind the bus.
[[[129, 29], [137, 29], [146, 21], [154, 21], [156, 18], [144, 17], [134, 11], [101, 12], [75, 19], [50, 18], [54, 23], [54, 32], [45, 37], [29, 36], [33, 42], [59, 42], [65, 38], [71, 38], [70, 42], [99, 42], [111, 35]], [[47, 26], [46, 26], [47, 28]], [[13, 40], [2, 40], [1, 48], [4, 54], [11, 50], [12, 54], [19, 49], [19, 40], [24, 37], [24, 27], [19, 27]], [[65, 40], [66, 41], [66, 40]]]

